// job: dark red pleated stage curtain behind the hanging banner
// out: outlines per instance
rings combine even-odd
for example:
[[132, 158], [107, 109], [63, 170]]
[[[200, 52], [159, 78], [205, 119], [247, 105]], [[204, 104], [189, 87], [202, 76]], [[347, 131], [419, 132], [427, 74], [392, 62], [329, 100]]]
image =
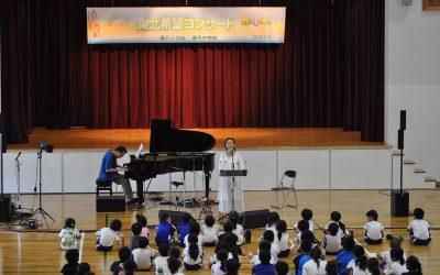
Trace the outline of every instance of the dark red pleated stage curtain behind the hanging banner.
[[[185, 1], [7, 0], [2, 110], [9, 142], [33, 128], [343, 127], [384, 139], [384, 1], [286, 6], [284, 44], [88, 45], [89, 7]], [[188, 0], [189, 6], [258, 1]]]

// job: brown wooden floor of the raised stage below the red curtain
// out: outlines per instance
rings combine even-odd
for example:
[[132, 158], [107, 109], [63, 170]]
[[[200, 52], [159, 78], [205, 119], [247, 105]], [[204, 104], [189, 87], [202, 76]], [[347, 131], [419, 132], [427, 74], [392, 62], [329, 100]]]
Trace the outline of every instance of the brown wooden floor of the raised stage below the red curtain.
[[[361, 141], [360, 132], [344, 132], [342, 128], [216, 128], [188, 129], [215, 136], [216, 148], [223, 146], [228, 136], [237, 140], [239, 148], [293, 147], [384, 147], [384, 142]], [[92, 150], [124, 145], [135, 150], [150, 144], [150, 129], [86, 129], [33, 130], [28, 143], [8, 145], [9, 150], [34, 150], [40, 142], [55, 148]]]

